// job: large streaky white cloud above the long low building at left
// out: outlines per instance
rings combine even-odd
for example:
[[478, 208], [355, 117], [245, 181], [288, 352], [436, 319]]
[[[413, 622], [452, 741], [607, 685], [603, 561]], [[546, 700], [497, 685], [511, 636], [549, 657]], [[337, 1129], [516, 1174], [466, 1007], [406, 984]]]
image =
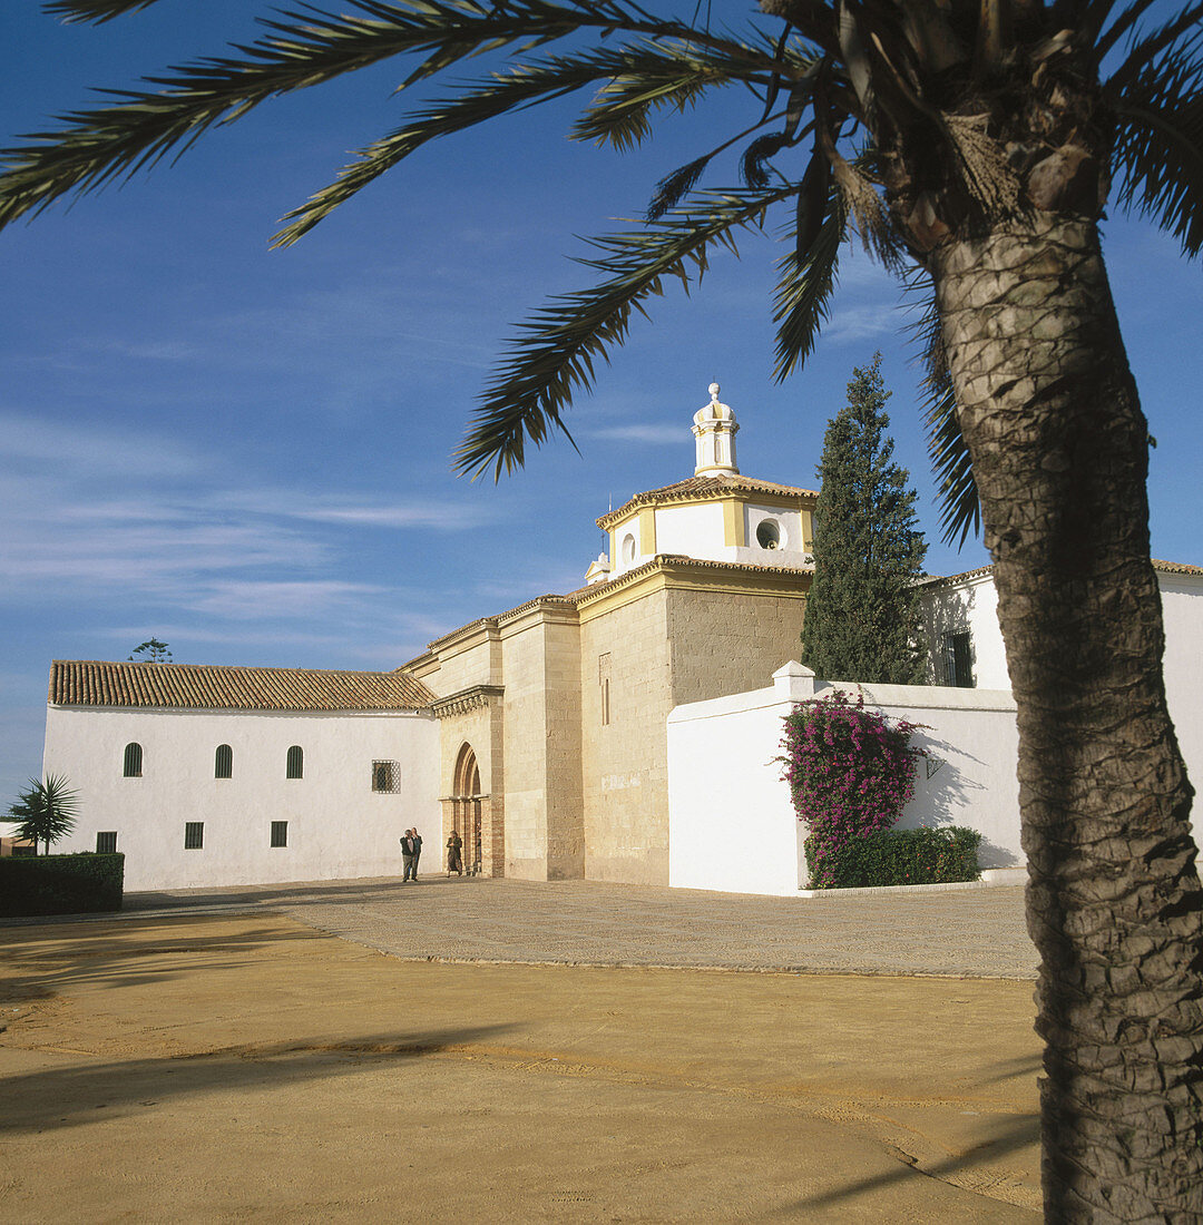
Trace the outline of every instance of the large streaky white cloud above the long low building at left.
[[80, 436], [12, 415], [4, 424], [13, 426], [0, 429], [0, 601], [10, 606], [132, 599], [198, 621], [345, 624], [368, 609], [379, 617], [390, 595], [349, 581], [343, 565], [371, 532], [468, 532], [489, 518], [472, 501], [263, 486], [225, 457], [170, 443], [154, 447], [153, 462], [135, 448], [131, 462], [115, 431]]

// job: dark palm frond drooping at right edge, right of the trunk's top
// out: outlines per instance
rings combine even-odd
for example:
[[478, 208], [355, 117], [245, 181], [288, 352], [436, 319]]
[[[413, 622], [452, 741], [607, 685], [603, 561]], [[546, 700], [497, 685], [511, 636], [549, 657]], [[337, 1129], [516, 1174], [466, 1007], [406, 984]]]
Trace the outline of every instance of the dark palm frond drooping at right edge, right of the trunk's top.
[[1114, 99], [1112, 167], [1121, 208], [1152, 217], [1198, 255], [1203, 249], [1203, 54], [1166, 55]]

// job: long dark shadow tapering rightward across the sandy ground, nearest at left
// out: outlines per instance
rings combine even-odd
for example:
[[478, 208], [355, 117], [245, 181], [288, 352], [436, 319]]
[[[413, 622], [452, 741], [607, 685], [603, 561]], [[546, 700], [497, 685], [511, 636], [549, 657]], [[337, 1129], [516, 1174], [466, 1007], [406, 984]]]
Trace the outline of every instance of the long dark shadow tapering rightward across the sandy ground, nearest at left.
[[496, 1038], [513, 1024], [295, 1038], [196, 1055], [75, 1063], [7, 1077], [0, 1134], [58, 1131], [219, 1090], [254, 1093], [353, 1072], [379, 1072], [454, 1046]]

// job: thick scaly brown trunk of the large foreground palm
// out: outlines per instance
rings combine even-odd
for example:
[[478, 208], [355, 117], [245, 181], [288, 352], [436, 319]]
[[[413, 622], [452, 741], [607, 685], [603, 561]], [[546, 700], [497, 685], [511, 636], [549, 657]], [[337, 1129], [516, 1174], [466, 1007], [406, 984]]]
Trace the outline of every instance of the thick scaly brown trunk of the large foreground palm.
[[1199, 1221], [1203, 894], [1098, 232], [1041, 214], [931, 267], [1019, 712], [1046, 1219]]

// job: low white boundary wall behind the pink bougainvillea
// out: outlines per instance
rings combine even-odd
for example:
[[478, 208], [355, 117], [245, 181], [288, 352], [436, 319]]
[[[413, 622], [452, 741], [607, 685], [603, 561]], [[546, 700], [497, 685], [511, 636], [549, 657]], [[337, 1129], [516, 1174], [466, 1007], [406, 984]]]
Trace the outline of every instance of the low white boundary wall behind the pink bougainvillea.
[[[1022, 866], [1016, 708], [1006, 691], [921, 685], [827, 685], [788, 664], [772, 688], [692, 702], [669, 715], [669, 884], [788, 895], [806, 884], [805, 829], [782, 779], [782, 720], [832, 688], [926, 725], [915, 742], [915, 797], [898, 828], [969, 826], [982, 867]], [[930, 777], [929, 777], [930, 775]]]

